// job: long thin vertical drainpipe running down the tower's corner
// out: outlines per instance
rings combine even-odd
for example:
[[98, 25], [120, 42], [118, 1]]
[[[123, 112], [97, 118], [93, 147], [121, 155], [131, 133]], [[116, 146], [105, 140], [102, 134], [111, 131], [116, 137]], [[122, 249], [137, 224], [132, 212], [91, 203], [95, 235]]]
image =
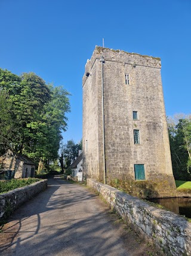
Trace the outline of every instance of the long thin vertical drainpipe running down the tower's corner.
[[104, 88], [103, 88], [103, 63], [104, 58], [101, 56], [101, 92], [102, 92], [102, 128], [103, 128], [103, 179], [104, 184], [107, 183], [106, 179], [106, 150], [105, 150], [105, 120], [104, 120]]

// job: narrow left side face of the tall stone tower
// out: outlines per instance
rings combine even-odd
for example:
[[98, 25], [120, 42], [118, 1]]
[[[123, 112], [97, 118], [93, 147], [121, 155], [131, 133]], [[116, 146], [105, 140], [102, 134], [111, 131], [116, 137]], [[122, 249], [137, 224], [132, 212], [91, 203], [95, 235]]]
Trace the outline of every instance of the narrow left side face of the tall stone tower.
[[91, 74], [85, 80], [83, 86], [83, 174], [85, 177], [102, 180], [100, 164], [103, 165], [103, 159], [100, 159], [100, 151], [103, 155], [103, 150], [98, 143], [100, 134], [98, 123], [101, 118], [98, 113], [97, 83], [100, 83], [101, 79], [98, 76], [98, 73], [100, 73], [98, 65], [99, 63], [94, 62]]

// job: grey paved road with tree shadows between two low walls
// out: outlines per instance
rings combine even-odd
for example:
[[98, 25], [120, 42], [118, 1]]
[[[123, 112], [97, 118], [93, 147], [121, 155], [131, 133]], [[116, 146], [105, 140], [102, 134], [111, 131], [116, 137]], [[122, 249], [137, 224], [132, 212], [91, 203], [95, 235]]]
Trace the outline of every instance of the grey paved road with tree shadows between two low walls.
[[[48, 189], [23, 204], [0, 234], [4, 256], [147, 255], [128, 250], [107, 206], [83, 186], [48, 180]], [[142, 246], [141, 246], [142, 248]]]

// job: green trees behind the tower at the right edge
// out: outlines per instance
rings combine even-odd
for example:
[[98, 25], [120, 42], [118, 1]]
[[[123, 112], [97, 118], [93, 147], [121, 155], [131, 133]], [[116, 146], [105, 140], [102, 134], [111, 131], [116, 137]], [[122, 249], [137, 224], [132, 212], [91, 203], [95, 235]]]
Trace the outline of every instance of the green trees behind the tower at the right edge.
[[167, 121], [175, 179], [191, 180], [191, 116], [179, 114]]

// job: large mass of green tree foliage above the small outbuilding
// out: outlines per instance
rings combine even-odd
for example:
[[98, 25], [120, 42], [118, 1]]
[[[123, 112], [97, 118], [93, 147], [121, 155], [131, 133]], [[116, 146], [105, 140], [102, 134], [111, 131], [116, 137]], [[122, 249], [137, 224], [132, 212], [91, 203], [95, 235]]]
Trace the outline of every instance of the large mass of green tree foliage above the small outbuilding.
[[0, 69], [0, 153], [10, 148], [43, 168], [58, 156], [69, 111], [69, 93], [61, 86], [46, 85], [35, 73]]

